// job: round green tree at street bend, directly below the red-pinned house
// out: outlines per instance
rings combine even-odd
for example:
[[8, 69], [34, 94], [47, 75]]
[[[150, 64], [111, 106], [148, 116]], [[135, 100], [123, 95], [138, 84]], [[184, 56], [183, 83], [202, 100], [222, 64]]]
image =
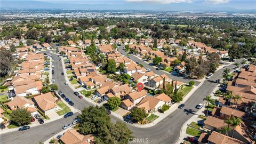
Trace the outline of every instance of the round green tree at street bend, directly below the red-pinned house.
[[130, 116], [136, 122], [141, 122], [143, 119], [147, 118], [148, 114], [144, 108], [134, 108], [131, 110]]

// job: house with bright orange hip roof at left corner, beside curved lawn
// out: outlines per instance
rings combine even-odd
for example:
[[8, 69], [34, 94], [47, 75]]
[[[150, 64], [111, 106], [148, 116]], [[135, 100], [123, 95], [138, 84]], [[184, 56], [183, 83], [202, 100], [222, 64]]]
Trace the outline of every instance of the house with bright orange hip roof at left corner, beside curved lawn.
[[52, 93], [45, 93], [38, 95], [33, 98], [38, 109], [40, 109], [45, 115], [55, 113], [56, 110], [60, 108], [56, 104], [56, 99], [53, 97]]

